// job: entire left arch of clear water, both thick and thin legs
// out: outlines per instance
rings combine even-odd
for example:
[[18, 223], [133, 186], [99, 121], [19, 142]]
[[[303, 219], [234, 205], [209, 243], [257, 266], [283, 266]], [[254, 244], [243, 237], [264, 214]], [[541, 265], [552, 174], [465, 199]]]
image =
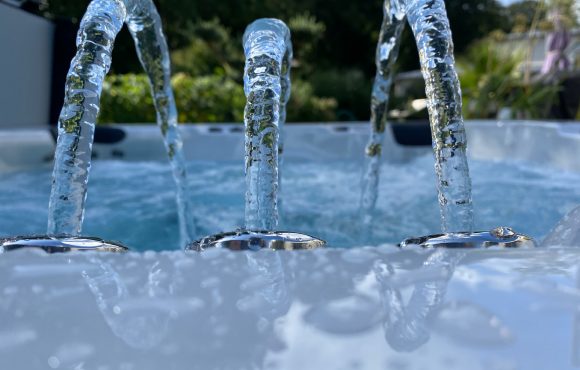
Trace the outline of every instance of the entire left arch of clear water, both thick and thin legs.
[[151, 0], [93, 0], [77, 36], [77, 54], [65, 85], [49, 202], [48, 234], [81, 232], [91, 166], [95, 123], [103, 80], [111, 66], [115, 37], [127, 22], [139, 59], [149, 76], [157, 121], [177, 185], [182, 245], [195, 229], [187, 196], [186, 171], [170, 86], [170, 63], [161, 20]]

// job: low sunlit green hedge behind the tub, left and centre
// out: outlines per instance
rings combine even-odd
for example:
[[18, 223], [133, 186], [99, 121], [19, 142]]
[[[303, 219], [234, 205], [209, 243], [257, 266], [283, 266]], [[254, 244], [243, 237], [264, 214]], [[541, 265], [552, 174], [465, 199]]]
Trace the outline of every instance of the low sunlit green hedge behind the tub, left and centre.
[[[225, 76], [191, 77], [177, 73], [171, 79], [179, 122], [242, 122], [246, 98], [243, 87]], [[290, 121], [332, 121], [337, 103], [315, 96], [312, 86], [293, 81], [287, 107]], [[147, 77], [143, 74], [110, 75], [101, 94], [101, 123], [155, 122]]]

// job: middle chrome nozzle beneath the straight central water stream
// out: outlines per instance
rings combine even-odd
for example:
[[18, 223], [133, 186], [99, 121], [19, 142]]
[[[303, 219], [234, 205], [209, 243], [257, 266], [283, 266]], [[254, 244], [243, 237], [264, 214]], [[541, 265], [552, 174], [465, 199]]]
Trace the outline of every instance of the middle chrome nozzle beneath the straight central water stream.
[[236, 230], [206, 236], [189, 244], [187, 251], [202, 252], [208, 248], [231, 250], [300, 250], [324, 247], [326, 242], [306, 234], [288, 231]]

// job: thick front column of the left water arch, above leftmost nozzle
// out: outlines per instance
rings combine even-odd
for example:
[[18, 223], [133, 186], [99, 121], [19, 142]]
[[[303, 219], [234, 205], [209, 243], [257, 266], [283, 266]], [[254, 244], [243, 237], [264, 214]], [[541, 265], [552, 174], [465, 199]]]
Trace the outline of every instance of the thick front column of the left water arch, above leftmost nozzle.
[[81, 231], [99, 98], [126, 14], [121, 2], [93, 1], [81, 21], [58, 122], [49, 234], [78, 235]]

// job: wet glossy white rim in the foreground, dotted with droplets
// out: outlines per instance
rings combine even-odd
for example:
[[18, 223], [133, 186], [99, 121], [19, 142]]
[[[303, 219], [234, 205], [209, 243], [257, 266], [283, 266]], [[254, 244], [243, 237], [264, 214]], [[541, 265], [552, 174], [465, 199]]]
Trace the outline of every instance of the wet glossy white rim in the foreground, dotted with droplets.
[[573, 369], [579, 267], [574, 248], [15, 251], [0, 368]]

